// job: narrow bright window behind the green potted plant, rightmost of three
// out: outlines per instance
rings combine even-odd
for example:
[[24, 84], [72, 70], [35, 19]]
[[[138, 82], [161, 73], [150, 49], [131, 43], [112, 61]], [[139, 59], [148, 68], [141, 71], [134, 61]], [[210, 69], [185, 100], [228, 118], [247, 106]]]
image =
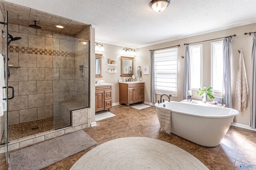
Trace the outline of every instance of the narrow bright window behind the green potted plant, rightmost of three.
[[215, 92], [223, 92], [223, 50], [222, 41], [212, 43], [211, 86]]

